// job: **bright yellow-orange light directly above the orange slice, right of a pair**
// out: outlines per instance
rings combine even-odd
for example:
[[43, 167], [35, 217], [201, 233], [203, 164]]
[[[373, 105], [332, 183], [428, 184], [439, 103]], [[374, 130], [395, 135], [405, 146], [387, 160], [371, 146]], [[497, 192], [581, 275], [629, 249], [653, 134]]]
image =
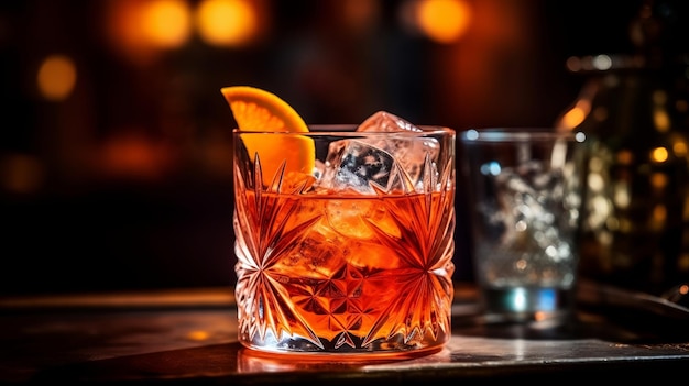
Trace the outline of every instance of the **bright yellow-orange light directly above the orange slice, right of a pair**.
[[201, 40], [208, 44], [241, 46], [258, 34], [258, 10], [249, 0], [203, 0], [196, 24]]

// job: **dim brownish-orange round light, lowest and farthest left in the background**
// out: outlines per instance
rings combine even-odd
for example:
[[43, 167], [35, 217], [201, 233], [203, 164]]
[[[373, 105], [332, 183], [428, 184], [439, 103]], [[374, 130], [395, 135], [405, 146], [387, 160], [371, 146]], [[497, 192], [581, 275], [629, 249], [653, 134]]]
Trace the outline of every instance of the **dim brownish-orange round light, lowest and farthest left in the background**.
[[39, 92], [52, 101], [66, 99], [77, 81], [77, 69], [72, 58], [64, 55], [46, 57], [36, 76]]

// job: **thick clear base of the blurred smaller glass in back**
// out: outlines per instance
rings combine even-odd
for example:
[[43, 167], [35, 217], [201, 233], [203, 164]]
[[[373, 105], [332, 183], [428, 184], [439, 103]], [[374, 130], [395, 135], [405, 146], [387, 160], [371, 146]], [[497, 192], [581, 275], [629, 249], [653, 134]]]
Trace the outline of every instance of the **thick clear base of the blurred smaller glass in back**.
[[573, 288], [484, 288], [481, 296], [483, 313], [490, 322], [559, 323], [573, 313]]

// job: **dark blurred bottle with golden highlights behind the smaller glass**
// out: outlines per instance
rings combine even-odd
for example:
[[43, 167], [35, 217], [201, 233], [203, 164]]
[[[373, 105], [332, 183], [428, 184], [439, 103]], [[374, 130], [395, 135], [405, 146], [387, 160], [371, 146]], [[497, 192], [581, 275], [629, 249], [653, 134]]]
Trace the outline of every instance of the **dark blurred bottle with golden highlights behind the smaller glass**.
[[655, 295], [689, 283], [689, 56], [681, 41], [689, 34], [681, 7], [645, 1], [630, 26], [633, 54], [570, 58], [570, 70], [587, 80], [556, 121], [558, 130], [587, 134], [580, 277]]

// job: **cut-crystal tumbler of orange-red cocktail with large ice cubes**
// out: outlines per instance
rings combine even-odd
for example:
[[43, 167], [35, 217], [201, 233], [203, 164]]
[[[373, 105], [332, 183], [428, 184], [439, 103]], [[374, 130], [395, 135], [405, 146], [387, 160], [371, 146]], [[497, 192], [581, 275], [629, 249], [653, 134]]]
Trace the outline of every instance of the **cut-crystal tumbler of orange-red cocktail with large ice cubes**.
[[[285, 145], [249, 150], [276, 137]], [[452, 130], [378, 112], [298, 133], [234, 130], [233, 141], [243, 345], [368, 360], [449, 340]], [[291, 143], [310, 150], [313, 168], [289, 168]]]

